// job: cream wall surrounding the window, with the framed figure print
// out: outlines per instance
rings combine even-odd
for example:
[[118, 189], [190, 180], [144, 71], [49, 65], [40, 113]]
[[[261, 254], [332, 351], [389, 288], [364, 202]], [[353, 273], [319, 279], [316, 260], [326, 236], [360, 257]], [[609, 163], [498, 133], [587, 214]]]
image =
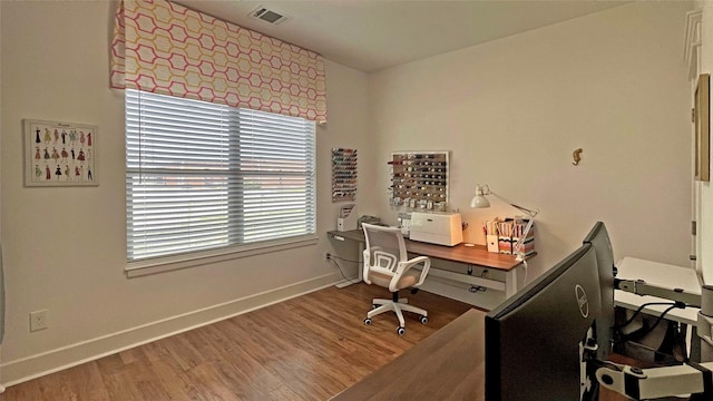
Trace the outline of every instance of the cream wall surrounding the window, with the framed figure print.
[[[1, 239], [7, 335], [1, 383], [311, 291], [340, 278], [321, 260], [333, 229], [334, 146], [365, 149], [367, 76], [326, 62], [329, 123], [318, 128], [315, 246], [127, 278], [124, 100], [109, 89], [116, 4], [0, 2], [2, 81]], [[98, 187], [26, 188], [23, 118], [99, 126]], [[368, 166], [368, 153], [360, 166]], [[360, 180], [360, 192], [368, 186]], [[255, 296], [253, 299], [253, 296]], [[31, 311], [49, 329], [29, 333]]]

